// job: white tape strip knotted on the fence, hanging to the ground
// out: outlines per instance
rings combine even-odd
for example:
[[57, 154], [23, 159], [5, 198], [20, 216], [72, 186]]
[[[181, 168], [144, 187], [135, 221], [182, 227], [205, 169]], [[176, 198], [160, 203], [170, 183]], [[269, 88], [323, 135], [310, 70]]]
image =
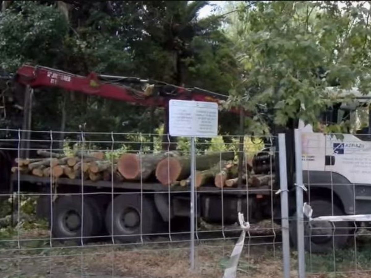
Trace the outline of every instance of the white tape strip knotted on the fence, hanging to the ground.
[[240, 255], [242, 253], [243, 245], [245, 242], [246, 231], [250, 229], [250, 223], [245, 222], [243, 214], [241, 212], [238, 213], [238, 221], [240, 223], [242, 232], [239, 239], [236, 242], [236, 245], [234, 245], [232, 254], [227, 263], [227, 268], [224, 271], [223, 278], [236, 278], [238, 261], [240, 259]]

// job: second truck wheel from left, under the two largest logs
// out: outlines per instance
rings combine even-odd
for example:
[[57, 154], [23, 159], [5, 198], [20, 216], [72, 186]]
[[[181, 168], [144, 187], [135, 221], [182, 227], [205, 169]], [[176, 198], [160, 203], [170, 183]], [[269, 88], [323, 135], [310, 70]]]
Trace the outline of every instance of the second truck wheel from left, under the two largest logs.
[[145, 234], [152, 234], [161, 220], [154, 202], [145, 196], [143, 196], [142, 216], [141, 218], [141, 196], [121, 194], [109, 204], [106, 210], [107, 231], [114, 236], [115, 241], [139, 241], [141, 232], [144, 237]]

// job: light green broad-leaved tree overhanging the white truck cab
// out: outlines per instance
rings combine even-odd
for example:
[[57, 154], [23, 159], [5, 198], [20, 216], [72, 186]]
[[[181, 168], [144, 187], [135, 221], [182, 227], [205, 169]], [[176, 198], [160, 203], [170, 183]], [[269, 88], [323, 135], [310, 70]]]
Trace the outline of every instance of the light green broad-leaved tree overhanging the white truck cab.
[[236, 97], [247, 110], [293, 128], [316, 124], [329, 102], [326, 87], [370, 90], [370, 11], [363, 2], [245, 1], [236, 43], [242, 80]]

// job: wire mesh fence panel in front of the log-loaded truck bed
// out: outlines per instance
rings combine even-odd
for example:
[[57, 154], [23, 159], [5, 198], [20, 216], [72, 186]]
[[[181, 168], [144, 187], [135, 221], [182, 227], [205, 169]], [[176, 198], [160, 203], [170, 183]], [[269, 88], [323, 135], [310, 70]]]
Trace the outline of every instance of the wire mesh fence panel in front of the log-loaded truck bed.
[[189, 139], [0, 135], [5, 277], [221, 277], [241, 232], [238, 212], [251, 224], [238, 277], [282, 275], [275, 137], [196, 139], [191, 271]]

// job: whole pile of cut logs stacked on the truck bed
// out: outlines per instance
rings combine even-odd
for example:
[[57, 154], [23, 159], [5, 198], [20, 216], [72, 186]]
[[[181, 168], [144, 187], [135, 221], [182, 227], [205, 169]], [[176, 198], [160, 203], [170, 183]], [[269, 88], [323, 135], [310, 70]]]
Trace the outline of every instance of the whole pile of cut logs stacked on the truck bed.
[[[125, 153], [117, 161], [106, 160], [102, 152], [75, 152], [71, 156], [38, 150], [39, 158], [16, 159], [13, 173], [53, 179], [87, 179], [97, 181], [154, 182], [164, 186], [190, 186], [191, 158], [176, 152], [157, 154]], [[236, 187], [239, 184], [238, 163], [233, 152], [196, 156], [195, 186]], [[252, 173], [244, 167], [243, 184], [253, 187], [271, 186], [274, 173]], [[139, 185], [138, 185], [139, 186]]]

